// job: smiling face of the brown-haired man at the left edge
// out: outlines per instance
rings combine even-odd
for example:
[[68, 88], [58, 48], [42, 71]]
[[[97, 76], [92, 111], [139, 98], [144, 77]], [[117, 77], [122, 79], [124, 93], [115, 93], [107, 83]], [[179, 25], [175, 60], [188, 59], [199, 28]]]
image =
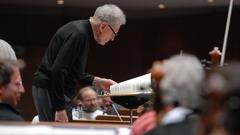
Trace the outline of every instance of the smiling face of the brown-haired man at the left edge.
[[0, 87], [1, 100], [3, 103], [17, 106], [21, 94], [24, 92], [25, 89], [22, 85], [20, 72], [18, 69], [15, 69], [11, 76], [10, 83]]

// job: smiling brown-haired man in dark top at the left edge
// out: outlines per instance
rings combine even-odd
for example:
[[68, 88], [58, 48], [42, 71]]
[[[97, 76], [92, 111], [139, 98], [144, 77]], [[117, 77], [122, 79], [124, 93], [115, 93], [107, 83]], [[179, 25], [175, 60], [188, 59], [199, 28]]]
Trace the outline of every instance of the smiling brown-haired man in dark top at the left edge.
[[0, 120], [23, 121], [16, 110], [21, 94], [25, 92], [17, 61], [0, 60]]

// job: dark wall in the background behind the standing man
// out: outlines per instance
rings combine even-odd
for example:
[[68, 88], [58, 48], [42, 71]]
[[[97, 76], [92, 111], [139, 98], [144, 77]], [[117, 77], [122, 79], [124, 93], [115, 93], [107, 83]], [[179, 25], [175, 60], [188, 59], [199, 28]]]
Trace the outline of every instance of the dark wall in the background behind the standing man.
[[[89, 16], [93, 12], [89, 12]], [[128, 15], [128, 14], [127, 14]], [[88, 16], [69, 16], [61, 12], [0, 12], [0, 39], [14, 46], [18, 57], [26, 61], [22, 76], [26, 93], [19, 109], [26, 120], [36, 114], [31, 83], [41, 57], [55, 31], [63, 24]], [[182, 50], [199, 59], [209, 59], [214, 46], [222, 48], [227, 11], [127, 19], [114, 42], [102, 47], [92, 44], [87, 71], [116, 81], [146, 73], [154, 60], [162, 60]], [[233, 10], [226, 60], [240, 59], [240, 11]]]

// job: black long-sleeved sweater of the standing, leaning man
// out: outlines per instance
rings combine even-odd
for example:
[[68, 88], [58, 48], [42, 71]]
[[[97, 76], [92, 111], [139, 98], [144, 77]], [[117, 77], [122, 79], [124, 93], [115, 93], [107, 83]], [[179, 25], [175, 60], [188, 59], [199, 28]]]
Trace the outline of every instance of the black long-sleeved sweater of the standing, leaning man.
[[[90, 40], [94, 40], [94, 37], [88, 20], [73, 21], [62, 26], [51, 39], [34, 74], [33, 86], [48, 90], [52, 112], [66, 108], [64, 96], [71, 98], [77, 84], [92, 85], [94, 76], [85, 73]], [[37, 106], [36, 99], [37, 102], [43, 99], [37, 96], [41, 95], [33, 94], [39, 114], [42, 107]]]

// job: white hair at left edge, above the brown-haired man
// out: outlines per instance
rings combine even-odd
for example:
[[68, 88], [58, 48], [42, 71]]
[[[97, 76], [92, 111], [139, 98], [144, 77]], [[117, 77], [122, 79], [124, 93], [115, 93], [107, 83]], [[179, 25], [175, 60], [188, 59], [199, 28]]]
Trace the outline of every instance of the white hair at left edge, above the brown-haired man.
[[0, 58], [17, 60], [16, 54], [11, 45], [2, 39], [0, 39]]

